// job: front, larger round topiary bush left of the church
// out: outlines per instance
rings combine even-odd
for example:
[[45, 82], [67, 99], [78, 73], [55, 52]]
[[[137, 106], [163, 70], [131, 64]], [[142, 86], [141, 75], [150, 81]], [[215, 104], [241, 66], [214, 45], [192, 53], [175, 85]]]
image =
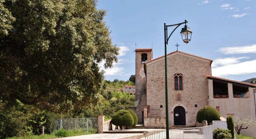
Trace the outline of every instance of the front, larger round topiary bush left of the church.
[[133, 116], [127, 110], [119, 110], [112, 117], [111, 122], [113, 125], [120, 126], [133, 126], [134, 119]]

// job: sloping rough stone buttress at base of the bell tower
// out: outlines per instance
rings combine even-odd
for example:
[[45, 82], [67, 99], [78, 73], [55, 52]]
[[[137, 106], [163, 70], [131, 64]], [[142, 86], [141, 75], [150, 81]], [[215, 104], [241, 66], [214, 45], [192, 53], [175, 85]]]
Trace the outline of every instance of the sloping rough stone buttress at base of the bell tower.
[[137, 107], [129, 108], [129, 110], [133, 111], [138, 117], [138, 123], [143, 123], [142, 112], [144, 111], [144, 107], [147, 107], [147, 95], [144, 92], [141, 96], [140, 102]]

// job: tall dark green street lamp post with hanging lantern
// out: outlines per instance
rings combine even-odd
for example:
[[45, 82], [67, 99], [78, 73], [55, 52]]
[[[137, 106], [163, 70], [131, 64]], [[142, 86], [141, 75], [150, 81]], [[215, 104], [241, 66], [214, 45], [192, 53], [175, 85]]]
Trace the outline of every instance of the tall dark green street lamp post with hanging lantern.
[[[168, 85], [167, 85], [167, 54], [166, 54], [166, 45], [168, 44], [168, 40], [171, 36], [171, 34], [173, 34], [174, 30], [176, 30], [181, 24], [185, 24], [184, 28], [181, 29], [181, 36], [183, 39], [184, 43], [189, 43], [189, 41], [191, 40], [191, 34], [192, 31], [190, 30], [190, 28], [187, 27], [186, 25], [187, 20], [185, 20], [185, 22], [183, 23], [179, 23], [179, 24], [173, 24], [173, 25], [166, 25], [166, 23], [164, 23], [164, 62], [165, 62], [165, 104], [166, 104], [166, 139], [169, 139], [169, 116], [168, 116]], [[167, 33], [167, 27], [171, 27], [171, 26], [177, 26], [173, 32], [171, 32], [170, 36], [167, 38], [168, 33]]]

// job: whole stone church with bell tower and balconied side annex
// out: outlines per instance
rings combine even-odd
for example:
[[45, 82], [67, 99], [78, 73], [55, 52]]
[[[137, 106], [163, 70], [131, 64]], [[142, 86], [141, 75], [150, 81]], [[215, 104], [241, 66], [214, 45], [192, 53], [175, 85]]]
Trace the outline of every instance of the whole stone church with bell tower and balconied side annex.
[[[138, 116], [139, 123], [147, 121], [148, 126], [158, 126], [154, 124], [159, 120], [165, 124], [164, 56], [152, 59], [152, 49], [136, 49], [135, 52], [135, 108], [130, 109]], [[250, 116], [255, 120], [256, 85], [211, 76], [212, 63], [211, 59], [178, 50], [167, 54], [170, 126], [194, 126], [197, 112], [204, 106], [217, 109], [222, 117], [234, 114], [234, 117]], [[152, 118], [158, 119], [148, 124]], [[241, 133], [246, 135], [252, 131], [256, 131], [256, 127], [241, 130]], [[256, 133], [251, 136], [255, 137]]]

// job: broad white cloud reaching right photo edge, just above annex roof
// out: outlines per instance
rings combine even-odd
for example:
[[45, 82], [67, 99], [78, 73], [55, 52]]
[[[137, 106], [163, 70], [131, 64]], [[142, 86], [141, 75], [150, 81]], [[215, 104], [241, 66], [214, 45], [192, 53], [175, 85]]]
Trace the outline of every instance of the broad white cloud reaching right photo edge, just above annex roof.
[[243, 75], [256, 73], [256, 60], [212, 68], [212, 75], [224, 77], [227, 75]]

